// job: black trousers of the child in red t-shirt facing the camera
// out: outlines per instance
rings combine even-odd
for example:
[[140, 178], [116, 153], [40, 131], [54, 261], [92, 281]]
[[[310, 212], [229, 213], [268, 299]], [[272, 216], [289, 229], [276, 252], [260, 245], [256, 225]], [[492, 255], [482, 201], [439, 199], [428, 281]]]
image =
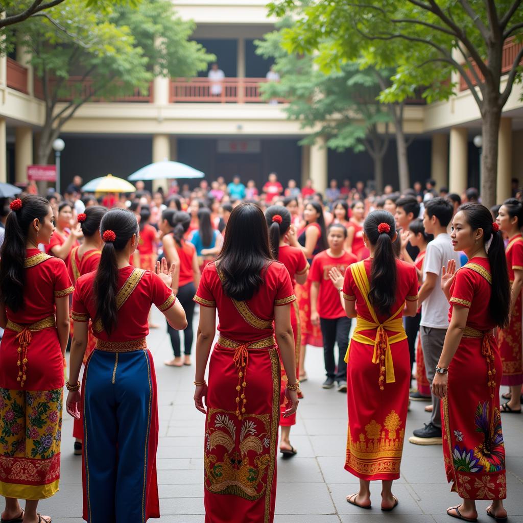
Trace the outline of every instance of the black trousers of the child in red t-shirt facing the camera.
[[[320, 318], [323, 336], [323, 357], [327, 378], [334, 378], [337, 382], [347, 381], [347, 363], [345, 353], [349, 344], [350, 318], [343, 316], [330, 320]], [[338, 369], [334, 358], [334, 344], [338, 343]]]

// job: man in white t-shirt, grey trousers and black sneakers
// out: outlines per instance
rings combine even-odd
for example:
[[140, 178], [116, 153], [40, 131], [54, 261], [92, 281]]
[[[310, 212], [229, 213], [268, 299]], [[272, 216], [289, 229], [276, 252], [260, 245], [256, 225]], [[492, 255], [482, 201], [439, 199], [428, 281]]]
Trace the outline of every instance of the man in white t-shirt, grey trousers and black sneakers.
[[[429, 383], [434, 379], [449, 326], [449, 302], [440, 287], [441, 269], [446, 267], [451, 259], [456, 260], [456, 268], [460, 267], [459, 253], [454, 252], [447, 233], [447, 225], [452, 220], [452, 214], [452, 204], [444, 198], [433, 198], [425, 203], [423, 225], [427, 234], [434, 234], [434, 240], [427, 245], [423, 261], [423, 284], [418, 294], [419, 303], [422, 304], [419, 335]], [[433, 394], [430, 422], [424, 428], [414, 430], [414, 436], [408, 439], [411, 443], [441, 445], [439, 402], [439, 398]]]

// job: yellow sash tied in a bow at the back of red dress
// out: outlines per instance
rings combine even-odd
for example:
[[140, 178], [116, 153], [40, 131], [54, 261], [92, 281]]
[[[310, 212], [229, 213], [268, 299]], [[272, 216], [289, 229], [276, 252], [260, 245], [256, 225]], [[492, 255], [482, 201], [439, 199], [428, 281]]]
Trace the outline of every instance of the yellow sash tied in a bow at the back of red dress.
[[[369, 301], [370, 284], [367, 278], [367, 272], [365, 271], [365, 265], [363, 261], [352, 264], [350, 271], [353, 274], [354, 282], [356, 287], [361, 292], [363, 299], [369, 312], [372, 316], [373, 321], [365, 320], [361, 316], [357, 317], [356, 328], [354, 329], [352, 340], [363, 343], [365, 345], [373, 345], [374, 352], [372, 354], [372, 363], [379, 363], [380, 365], [380, 389], [383, 390], [383, 379], [386, 383], [394, 383], [396, 381], [394, 377], [394, 362], [392, 360], [391, 343], [401, 342], [407, 338], [405, 334], [405, 328], [403, 327], [403, 321], [398, 315], [403, 311], [405, 302], [402, 303], [400, 308], [383, 323], [380, 323], [376, 311], [372, 307]], [[362, 331], [373, 331], [376, 329], [376, 337], [374, 339], [369, 338], [361, 334]], [[386, 331], [396, 332], [393, 336], [390, 336]], [[350, 343], [347, 348], [347, 354], [345, 355], [345, 361], [349, 360]], [[385, 378], [383, 377], [385, 374]]]

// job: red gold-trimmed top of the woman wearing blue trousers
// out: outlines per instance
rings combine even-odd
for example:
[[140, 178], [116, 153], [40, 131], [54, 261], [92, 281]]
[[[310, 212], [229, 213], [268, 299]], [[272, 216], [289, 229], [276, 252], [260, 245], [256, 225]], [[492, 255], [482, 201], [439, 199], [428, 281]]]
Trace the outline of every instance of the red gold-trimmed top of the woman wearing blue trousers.
[[[71, 312], [75, 321], [87, 322], [91, 319], [94, 322], [96, 319], [95, 277], [95, 272], [89, 272], [79, 277], [76, 282]], [[145, 338], [149, 334], [147, 316], [151, 305], [154, 303], [164, 312], [175, 302], [172, 290], [165, 285], [160, 276], [150, 270], [135, 269], [131, 266], [119, 269], [118, 289], [124, 284], [135, 287], [118, 309], [118, 321], [110, 336], [105, 331], [98, 332], [96, 327], [93, 327], [93, 334], [101, 340], [127, 342]]]

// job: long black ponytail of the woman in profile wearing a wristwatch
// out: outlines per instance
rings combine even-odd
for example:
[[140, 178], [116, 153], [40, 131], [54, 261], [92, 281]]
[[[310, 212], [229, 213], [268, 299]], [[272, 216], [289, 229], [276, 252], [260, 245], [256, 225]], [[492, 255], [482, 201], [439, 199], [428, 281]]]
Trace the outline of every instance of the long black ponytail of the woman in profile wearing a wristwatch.
[[492, 214], [481, 203], [463, 203], [458, 209], [465, 215], [465, 220], [472, 231], [483, 229], [485, 244], [492, 238], [488, 247], [487, 256], [491, 266], [492, 292], [488, 310], [498, 327], [508, 325], [510, 309], [510, 283], [508, 281], [507, 260], [505, 258], [505, 245], [501, 231], [493, 230]]

